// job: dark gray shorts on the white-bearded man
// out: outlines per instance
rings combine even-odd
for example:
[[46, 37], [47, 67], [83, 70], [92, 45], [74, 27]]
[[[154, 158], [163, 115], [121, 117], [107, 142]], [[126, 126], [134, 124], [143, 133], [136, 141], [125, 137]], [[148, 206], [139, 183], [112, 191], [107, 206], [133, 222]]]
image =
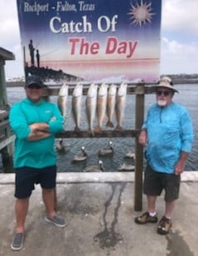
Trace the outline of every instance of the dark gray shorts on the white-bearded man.
[[143, 193], [160, 195], [165, 190], [165, 200], [171, 202], [179, 198], [181, 175], [167, 174], [152, 170], [147, 165], [144, 172]]

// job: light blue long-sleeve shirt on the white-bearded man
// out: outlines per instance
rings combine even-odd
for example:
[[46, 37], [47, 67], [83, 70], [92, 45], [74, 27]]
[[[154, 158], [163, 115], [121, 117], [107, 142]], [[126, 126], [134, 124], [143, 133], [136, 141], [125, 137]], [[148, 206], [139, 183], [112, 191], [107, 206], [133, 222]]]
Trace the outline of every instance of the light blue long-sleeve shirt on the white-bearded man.
[[191, 116], [174, 102], [169, 106], [154, 104], [147, 112], [142, 129], [147, 130], [147, 163], [153, 170], [174, 173], [181, 151], [189, 153], [193, 142]]

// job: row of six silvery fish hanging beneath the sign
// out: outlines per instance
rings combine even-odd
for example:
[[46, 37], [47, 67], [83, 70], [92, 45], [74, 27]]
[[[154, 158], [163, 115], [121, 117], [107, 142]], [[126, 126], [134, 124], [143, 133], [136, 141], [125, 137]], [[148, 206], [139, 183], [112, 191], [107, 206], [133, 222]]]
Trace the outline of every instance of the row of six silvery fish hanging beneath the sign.
[[[67, 96], [69, 86], [63, 84], [60, 87], [58, 95], [58, 106], [61, 114], [66, 119], [67, 109]], [[72, 93], [72, 116], [75, 121], [75, 130], [80, 130], [81, 120], [81, 106], [83, 96], [83, 85], [77, 84]], [[111, 84], [108, 86], [103, 83], [100, 86], [92, 83], [89, 86], [86, 99], [85, 109], [86, 118], [88, 123], [89, 131], [94, 134], [94, 131], [101, 132], [103, 126], [114, 127], [113, 116], [117, 121], [115, 130], [122, 130], [122, 122], [124, 117], [124, 109], [126, 105], [127, 96], [127, 84], [122, 83], [118, 86]], [[106, 122], [104, 124], [104, 121]], [[97, 126], [94, 127], [94, 123], [97, 120]]]

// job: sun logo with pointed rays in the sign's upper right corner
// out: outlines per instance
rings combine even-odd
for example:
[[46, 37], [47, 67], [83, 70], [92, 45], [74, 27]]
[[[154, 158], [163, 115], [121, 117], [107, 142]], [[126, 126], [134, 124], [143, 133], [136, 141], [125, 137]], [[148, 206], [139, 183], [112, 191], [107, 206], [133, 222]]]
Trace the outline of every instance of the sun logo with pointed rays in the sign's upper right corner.
[[141, 0], [140, 4], [137, 2], [136, 6], [133, 5], [133, 3], [130, 4], [131, 9], [130, 12], [128, 12], [128, 15], [130, 15], [130, 19], [133, 20], [133, 25], [139, 25], [140, 27], [142, 24], [147, 24], [147, 22], [152, 22], [152, 15], [155, 13], [152, 13], [152, 3], [151, 2], [143, 2]]

